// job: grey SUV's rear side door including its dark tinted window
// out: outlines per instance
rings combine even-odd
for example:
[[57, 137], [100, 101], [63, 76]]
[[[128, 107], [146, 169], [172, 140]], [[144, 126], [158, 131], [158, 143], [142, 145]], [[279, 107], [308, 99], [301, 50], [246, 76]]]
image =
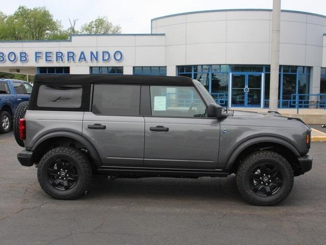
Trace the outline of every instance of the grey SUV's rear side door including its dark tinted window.
[[93, 85], [92, 110], [85, 112], [83, 135], [104, 166], [143, 166], [144, 117], [140, 85]]

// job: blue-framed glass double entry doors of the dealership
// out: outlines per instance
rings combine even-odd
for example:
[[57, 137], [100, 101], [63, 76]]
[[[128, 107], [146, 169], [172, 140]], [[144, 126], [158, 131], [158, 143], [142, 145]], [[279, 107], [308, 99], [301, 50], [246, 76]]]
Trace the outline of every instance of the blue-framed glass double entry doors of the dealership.
[[261, 74], [232, 74], [231, 107], [261, 107]]

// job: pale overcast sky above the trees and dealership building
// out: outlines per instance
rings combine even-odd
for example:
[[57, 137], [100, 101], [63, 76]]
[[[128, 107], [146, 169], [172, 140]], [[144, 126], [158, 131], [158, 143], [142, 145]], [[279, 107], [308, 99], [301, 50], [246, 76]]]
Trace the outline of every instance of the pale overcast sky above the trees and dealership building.
[[[77, 29], [98, 16], [107, 16], [120, 24], [122, 33], [150, 33], [152, 18], [169, 14], [214, 9], [271, 9], [273, 0], [0, 0], [0, 11], [12, 14], [19, 5], [45, 6], [65, 28], [70, 19], [78, 19]], [[282, 0], [281, 9], [326, 15], [326, 0]]]

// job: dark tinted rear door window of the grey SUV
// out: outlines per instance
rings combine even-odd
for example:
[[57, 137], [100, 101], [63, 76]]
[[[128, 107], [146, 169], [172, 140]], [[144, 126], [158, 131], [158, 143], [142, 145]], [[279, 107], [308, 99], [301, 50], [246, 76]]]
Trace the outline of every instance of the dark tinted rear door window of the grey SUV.
[[140, 93], [139, 85], [95, 85], [92, 112], [97, 115], [138, 116]]

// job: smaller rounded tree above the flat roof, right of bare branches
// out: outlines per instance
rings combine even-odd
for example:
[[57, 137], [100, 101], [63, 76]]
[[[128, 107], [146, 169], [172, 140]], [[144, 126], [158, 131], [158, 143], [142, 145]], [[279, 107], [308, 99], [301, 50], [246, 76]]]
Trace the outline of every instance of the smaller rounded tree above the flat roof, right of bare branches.
[[121, 27], [119, 25], [114, 26], [112, 22], [108, 21], [107, 17], [99, 16], [97, 19], [83, 24], [80, 32], [83, 34], [115, 34], [121, 33]]

